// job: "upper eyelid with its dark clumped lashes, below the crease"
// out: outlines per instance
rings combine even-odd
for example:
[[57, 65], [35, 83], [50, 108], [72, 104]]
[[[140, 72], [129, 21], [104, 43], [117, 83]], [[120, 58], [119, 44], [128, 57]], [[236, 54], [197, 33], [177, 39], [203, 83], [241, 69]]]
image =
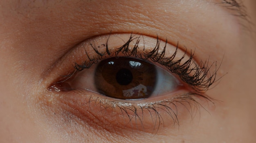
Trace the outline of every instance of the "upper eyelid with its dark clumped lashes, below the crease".
[[[117, 34], [118, 35], [118, 34]], [[120, 36], [120, 35], [119, 35]], [[127, 36], [127, 35], [126, 35]], [[130, 43], [132, 43], [132, 42], [134, 42], [135, 43], [135, 45], [134, 46], [136, 46], [136, 44], [137, 44], [137, 42], [139, 41], [138, 39], [138, 37], [144, 37], [144, 36], [141, 36], [141, 35], [133, 35], [133, 34], [128, 34], [128, 36], [129, 36], [129, 39], [128, 39], [128, 41], [126, 41], [126, 40], [123, 40], [123, 42], [125, 43], [125, 44], [121, 44], [121, 47], [123, 47], [124, 48], [124, 46], [127, 46], [127, 43], [128, 43], [128, 45], [130, 44]], [[104, 36], [103, 36], [104, 37]], [[103, 38], [103, 37], [96, 37], [96, 39], [98, 38], [98, 39], [101, 39], [101, 38]], [[90, 67], [90, 65], [92, 65], [92, 64], [94, 64], [94, 63], [97, 63], [98, 62], [98, 60], [101, 60], [101, 58], [102, 58], [102, 56], [104, 56], [105, 54], [107, 54], [108, 52], [106, 52], [106, 47], [108, 47], [108, 39], [109, 39], [109, 37], [110, 36], [105, 36], [105, 38], [107, 37], [107, 40], [105, 40], [105, 44], [102, 44], [102, 42], [99, 42], [99, 45], [97, 45], [97, 44], [95, 44], [95, 43], [93, 43], [92, 41], [87, 41], [87, 42], [84, 42], [84, 43], [82, 43], [81, 45], [79, 45], [77, 48], [74, 48], [73, 50], [72, 50], [72, 52], [69, 52], [67, 55], [65, 55], [63, 58], [64, 58], [64, 62], [63, 62], [63, 67], [68, 67], [68, 66], [70, 66], [70, 65], [65, 65], [65, 64], [73, 64], [73, 66], [74, 67], [76, 67], [76, 70], [82, 70], [83, 68], [88, 68], [88, 67]], [[95, 37], [94, 37], [95, 38]], [[93, 39], [94, 39], [93, 38]], [[148, 37], [147, 37], [148, 38]], [[152, 37], [150, 37], [151, 38], [151, 40], [153, 40], [154, 42], [154, 44], [152, 45], [152, 43], [151, 43], [151, 45], [150, 45], [150, 43], [144, 43], [144, 42], [149, 42], [149, 41], [146, 41], [144, 38], [142, 38], [143, 39], [143, 45], [142, 45], [142, 47], [143, 46], [145, 46], [145, 45], [148, 45], [148, 46], [150, 46], [150, 48], [151, 48], [151, 50], [150, 50], [150, 52], [152, 52], [153, 50], [155, 50], [155, 52], [152, 52], [153, 54], [154, 53], [157, 53], [158, 55], [158, 57], [155, 55], [155, 57], [157, 57], [157, 58], [150, 58], [150, 60], [152, 60], [152, 61], [154, 61], [154, 62], [158, 62], [159, 63], [159, 61], [158, 61], [158, 58], [160, 59], [160, 60], [162, 60], [162, 58], [164, 58], [164, 54], [166, 54], [165, 52], [161, 52], [161, 50], [162, 51], [164, 51], [165, 50], [165, 48], [166, 48], [166, 44], [167, 44], [167, 41], [166, 42], [163, 42], [162, 41], [162, 43], [161, 43], [161, 40], [159, 40], [157, 37], [156, 38], [152, 38]], [[121, 38], [122, 39], [122, 38]], [[135, 39], [135, 41], [133, 41]], [[95, 39], [94, 39], [95, 40]], [[120, 39], [119, 39], [120, 40]], [[129, 41], [130, 40], [130, 41]], [[136, 41], [137, 40], [137, 41]], [[145, 40], [145, 41], [144, 41]], [[97, 41], [97, 40], [96, 40]], [[103, 43], [104, 43], [104, 40], [103, 40]], [[119, 43], [120, 44], [120, 41], [117, 41], [117, 43]], [[86, 46], [85, 46], [85, 45]], [[103, 49], [105, 49], [105, 51], [103, 50], [103, 53], [101, 53], [102, 51], [98, 51], [97, 50], [97, 48], [100, 48], [100, 46], [101, 45], [104, 45], [104, 47], [105, 48], [103, 48]], [[115, 45], [115, 44], [114, 44]], [[161, 48], [162, 49], [160, 49], [159, 47], [157, 47], [157, 45], [161, 45]], [[96, 46], [96, 47], [95, 47]], [[85, 48], [85, 47], [88, 47], [88, 48]], [[111, 47], [111, 46], [110, 46]], [[152, 47], [153, 47], [153, 50], [152, 50]], [[82, 50], [83, 50], [83, 53], [82, 53], [82, 51], [81, 51], [81, 48], [82, 48]], [[84, 48], [84, 49], [83, 49]], [[115, 50], [117, 50], [118, 48], [120, 48], [120, 46], [119, 47], [114, 47], [114, 49]], [[129, 47], [125, 47], [126, 49], [123, 49], [123, 50], [127, 50], [127, 49], [129, 49]], [[145, 47], [143, 47], [143, 48], [145, 48]], [[178, 46], [176, 46], [176, 47], [174, 47], [173, 46], [173, 48], [176, 48], [175, 49], [175, 51], [174, 52], [172, 52], [171, 53], [171, 57], [173, 58], [173, 59], [175, 59], [176, 58], [176, 52], [177, 52], [177, 49], [178, 49]], [[137, 48], [135, 48], [135, 47], [133, 47], [133, 49], [137, 49]], [[133, 49], [131, 49], [131, 50], [133, 50]], [[120, 49], [119, 49], [120, 50]], [[122, 50], [122, 49], [121, 49]], [[160, 50], [160, 52], [159, 51], [157, 51], [157, 50]], [[170, 49], [168, 49], [168, 50], [170, 50]], [[173, 49], [172, 49], [173, 50]], [[89, 57], [89, 55], [88, 55], [88, 53], [90, 54], [90, 52], [94, 52], [94, 54], [92, 54], [92, 55], [94, 55], [94, 57]], [[119, 52], [122, 52], [122, 51], [119, 51]], [[123, 51], [124, 52], [124, 51]], [[134, 51], [133, 51], [134, 52]], [[136, 51], [135, 51], [136, 52]], [[72, 54], [73, 53], [73, 54]], [[79, 61], [77, 61], [77, 59], [72, 59], [72, 58], [77, 58], [77, 57], [75, 57], [75, 55], [74, 55], [74, 53], [77, 53], [78, 55], [76, 55], [76, 56], [78, 56], [79, 58], [80, 58], [80, 60]], [[111, 53], [116, 53], [116, 52], [111, 52]], [[152, 53], [151, 53], [151, 55], [150, 56], [152, 56]], [[162, 53], [164, 53], [163, 55], [162, 55]], [[108, 53], [108, 54], [110, 54], [110, 53]], [[127, 53], [126, 53], [127, 54]], [[138, 53], [132, 53], [132, 52], [130, 52], [130, 53], [128, 53], [128, 54], [131, 54], [131, 55], [135, 55], [135, 56], [138, 56], [138, 55], [136, 55], [136, 54], [138, 54]], [[148, 54], [150, 54], [150, 53], [148, 53]], [[169, 53], [170, 54], [170, 53]], [[213, 82], [215, 81], [215, 78], [216, 78], [216, 71], [215, 72], [213, 72], [213, 73], [210, 73], [209, 74], [209, 67], [208, 67], [208, 63], [207, 63], [207, 61], [205, 62], [205, 63], [199, 63], [197, 66], [195, 66], [195, 67], [192, 67], [192, 69], [189, 69], [189, 68], [191, 68], [190, 66], [193, 64], [193, 62], [194, 61], [192, 61], [192, 59], [193, 59], [193, 53], [190, 53], [190, 57], [189, 57], [189, 59], [188, 59], [188, 61], [187, 60], [185, 60], [185, 63], [186, 62], [188, 62], [188, 63], [186, 63], [186, 64], [184, 64], [184, 65], [182, 65], [181, 63], [181, 61], [182, 61], [182, 59], [184, 58], [184, 57], [186, 57], [185, 55], [186, 55], [187, 53], [186, 52], [182, 52], [182, 55], [181, 56], [177, 56], [178, 57], [178, 59], [176, 59], [176, 63], [175, 64], [173, 64], [173, 63], [171, 63], [171, 64], [173, 64], [173, 65], [175, 65], [175, 66], [177, 66], [177, 65], [181, 65], [181, 66], [184, 66], [184, 67], [182, 67], [182, 68], [185, 68], [185, 69], [183, 69], [183, 71], [185, 72], [185, 73], [183, 73], [184, 75], [179, 75], [179, 74], [182, 74], [182, 73], [175, 73], [175, 71], [176, 71], [176, 69], [172, 69], [173, 67], [170, 67], [171, 69], [169, 69], [169, 71], [170, 72], [174, 72], [175, 74], [177, 74], [178, 76], [180, 76], [180, 78], [181, 78], [181, 80], [183, 80], [184, 82], [186, 82], [187, 84], [189, 84], [189, 85], [191, 85], [191, 87], [193, 87], [193, 89], [195, 89], [195, 91], [198, 91], [198, 92], [205, 92], [205, 91], [207, 91], [207, 89], [209, 88], [209, 86], [211, 86], [212, 84], [213, 84]], [[98, 58], [95, 58], [95, 55], [96, 55], [96, 57], [98, 56]], [[154, 56], [154, 55], [153, 55]], [[180, 58], [180, 57], [182, 57], [182, 58]], [[67, 58], [67, 59], [69, 59], [69, 60], [72, 60], [72, 61], [74, 61], [76, 64], [74, 65], [74, 63], [69, 63], [69, 62], [66, 62], [65, 63], [65, 60], [67, 60], [67, 59], [65, 59], [65, 58]], [[81, 58], [83, 58], [83, 59], [81, 59]], [[141, 57], [140, 57], [141, 58]], [[168, 57], [168, 58], [170, 58], [170, 56]], [[87, 61], [89, 61], [89, 65], [85, 65], [83, 62], [84, 61], [86, 61], [85, 59], [87, 59]], [[172, 60], [173, 60], [172, 59]], [[147, 60], [147, 58], [146, 59], [144, 59], [144, 60]], [[62, 60], [63, 61], [63, 60]], [[175, 60], [173, 60], [173, 61], [175, 61]], [[80, 62], [80, 63], [77, 63], [77, 62]], [[163, 60], [162, 60], [162, 62], [163, 62]], [[161, 64], [161, 63], [160, 63]], [[61, 65], [61, 64], [60, 64]], [[161, 64], [161, 65], [164, 65], [163, 63]], [[85, 66], [85, 67], [83, 67], [83, 66]], [[166, 66], [166, 65], [164, 65], [164, 66]], [[168, 66], [170, 66], [170, 64], [168, 64]], [[202, 67], [200, 67], [200, 66], [202, 66]], [[62, 67], [61, 67], [62, 68]], [[181, 68], [181, 67], [180, 67]], [[193, 69], [194, 68], [194, 69]], [[66, 71], [67, 71], [67, 69], [65, 69]], [[191, 71], [189, 71], [189, 70], [191, 70]], [[69, 71], [71, 71], [70, 69], [69, 69]], [[189, 75], [186, 75], [186, 72], [193, 72], [194, 71], [194, 75], [192, 75], [191, 77], [189, 77]], [[58, 71], [58, 72], [60, 72], [60, 71]], [[71, 71], [70, 73], [65, 73], [65, 74], [61, 74], [61, 73], [59, 73], [59, 76], [60, 75], [67, 75], [66, 76], [66, 78], [69, 78], [70, 76], [72, 76], [72, 74], [74, 73], [74, 69], [73, 69], [73, 72]], [[64, 77], [64, 79], [65, 79], [65, 76], [63, 76]], [[193, 79], [189, 79], [189, 78], [193, 78]], [[57, 81], [59, 81], [59, 79], [57, 79]], [[57, 82], [56, 81], [56, 82]]]

